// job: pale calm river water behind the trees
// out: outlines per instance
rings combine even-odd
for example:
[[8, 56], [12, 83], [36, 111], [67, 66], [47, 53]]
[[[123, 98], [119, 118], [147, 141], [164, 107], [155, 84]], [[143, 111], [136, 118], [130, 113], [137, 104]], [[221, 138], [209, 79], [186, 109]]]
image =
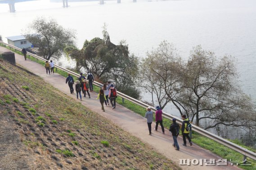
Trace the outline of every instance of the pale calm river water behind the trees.
[[[237, 59], [238, 84], [256, 100], [256, 0], [116, 0], [62, 3], [36, 0], [16, 3], [16, 13], [9, 13], [8, 4], [0, 4], [0, 34], [2, 37], [20, 35], [38, 16], [53, 17], [65, 28], [76, 30], [77, 46], [85, 39], [102, 38], [102, 26], [108, 25], [112, 43], [125, 39], [130, 52], [139, 58], [152, 47], [167, 40], [174, 43], [180, 55], [187, 59], [192, 47], [201, 44], [217, 56], [232, 55]], [[4, 38], [4, 41], [7, 40]], [[56, 61], [57, 62], [57, 61]], [[72, 65], [65, 58], [58, 61]], [[142, 93], [143, 100], [152, 101]], [[166, 112], [180, 116], [174, 106]], [[202, 126], [207, 121], [202, 122]], [[226, 138], [239, 138], [249, 144], [247, 132], [240, 128], [219, 127], [210, 130]]]

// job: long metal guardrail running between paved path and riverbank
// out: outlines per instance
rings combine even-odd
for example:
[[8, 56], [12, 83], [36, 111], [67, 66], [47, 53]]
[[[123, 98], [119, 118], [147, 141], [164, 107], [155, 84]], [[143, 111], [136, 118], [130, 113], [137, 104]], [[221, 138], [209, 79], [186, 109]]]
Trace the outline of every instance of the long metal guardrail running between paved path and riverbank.
[[[10, 47], [10, 48], [12, 47], [12, 48], [14, 48], [15, 50], [22, 51], [22, 49], [17, 48], [17, 47], [14, 47], [14, 46], [12, 46], [12, 45], [9, 45], [9, 44], [7, 44], [7, 43], [1, 42], [1, 41], [0, 41], [0, 43], [4, 44], [5, 46], [8, 46], [8, 47]], [[31, 56], [33, 56], [33, 57], [35, 57], [36, 59], [40, 59], [40, 60], [42, 60], [42, 61], [47, 61], [46, 59], [43, 59], [43, 58], [41, 58], [41, 57], [39, 57], [39, 56], [37, 56], [37, 55], [31, 54], [31, 53], [27, 53], [27, 54], [28, 54], [28, 55], [31, 55]], [[54, 64], [54, 66], [55, 66], [56, 68], [59, 68], [59, 69], [65, 71], [65, 72], [67, 72], [67, 73], [70, 73], [70, 74], [72, 74], [72, 75], [74, 75], [74, 76], [76, 76], [76, 77], [80, 77], [80, 74], [77, 74], [76, 72], [72, 72], [72, 71], [70, 71], [70, 70], [68, 70], [68, 69], [66, 69], [66, 68], [63, 68], [63, 67], [58, 66], [58, 65], [55, 65], [55, 64]], [[103, 86], [101, 83], [96, 82], [96, 81], [94, 81], [94, 85], [99, 86], [99, 87], [102, 87], [102, 86]], [[139, 105], [139, 106], [142, 106], [142, 107], [145, 107], [145, 108], [149, 106], [148, 104], [146, 104], [146, 103], [144, 103], [144, 102], [141, 102], [141, 101], [139, 101], [139, 100], [136, 100], [135, 98], [131, 98], [130, 96], [127, 96], [127, 95], [124, 94], [124, 93], [121, 93], [121, 92], [118, 92], [118, 91], [117, 91], [117, 93], [118, 93], [118, 96], [120, 96], [121, 98], [126, 99], [126, 100], [128, 100], [128, 101], [130, 101], [130, 102], [133, 102], [133, 103], [135, 103], [135, 104], [137, 104], [137, 105]], [[152, 107], [152, 106], [151, 106], [151, 107]], [[153, 110], [154, 112], [156, 111], [156, 109], [155, 109], [154, 107], [152, 107], [152, 110]], [[175, 119], [176, 119], [176, 122], [179, 123], [179, 124], [182, 124], [182, 122], [183, 122], [182, 119], [177, 118], [177, 117], [175, 117], [175, 116], [173, 116], [173, 115], [169, 115], [169, 114], [167, 114], [166, 112], [163, 112], [162, 115], [163, 115], [163, 117], [165, 117], [166, 119], [170, 119], [170, 120], [172, 120], [173, 118], [175, 118]], [[252, 158], [253, 160], [256, 160], [256, 153], [254, 153], [254, 152], [252, 152], [252, 151], [250, 151], [250, 150], [248, 150], [248, 149], [245, 149], [245, 148], [243, 148], [242, 146], [239, 146], [238, 144], [234, 144], [234, 143], [232, 143], [232, 142], [230, 142], [230, 141], [228, 141], [228, 140], [225, 140], [224, 138], [222, 138], [222, 137], [220, 137], [220, 136], [217, 136], [217, 135], [215, 135], [215, 134], [213, 134], [213, 133], [211, 133], [211, 132], [207, 132], [206, 130], [204, 130], [204, 129], [202, 129], [202, 128], [196, 126], [196, 125], [193, 125], [192, 128], [193, 128], [193, 131], [198, 132], [198, 133], [201, 134], [202, 136], [206, 136], [207, 138], [210, 138], [210, 139], [212, 139], [212, 140], [214, 140], [214, 141], [216, 141], [216, 142], [218, 142], [218, 143], [220, 143], [220, 144], [223, 144], [224, 146], [226, 146], [226, 147], [228, 147], [228, 148], [230, 148], [230, 149], [233, 149], [234, 151], [236, 151], [236, 152], [238, 152], [238, 153], [243, 154], [243, 156], [244, 156], [244, 157], [243, 157], [243, 160], [244, 160], [244, 161], [245, 161], [245, 159], [246, 159], [247, 157], [250, 157], [250, 158]]]

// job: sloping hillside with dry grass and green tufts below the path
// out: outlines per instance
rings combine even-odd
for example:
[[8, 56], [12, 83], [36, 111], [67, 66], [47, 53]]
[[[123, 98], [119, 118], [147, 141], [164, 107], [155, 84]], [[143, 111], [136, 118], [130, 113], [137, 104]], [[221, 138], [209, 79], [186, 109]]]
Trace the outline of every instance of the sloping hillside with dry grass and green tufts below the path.
[[0, 169], [180, 169], [114, 123], [0, 60]]

